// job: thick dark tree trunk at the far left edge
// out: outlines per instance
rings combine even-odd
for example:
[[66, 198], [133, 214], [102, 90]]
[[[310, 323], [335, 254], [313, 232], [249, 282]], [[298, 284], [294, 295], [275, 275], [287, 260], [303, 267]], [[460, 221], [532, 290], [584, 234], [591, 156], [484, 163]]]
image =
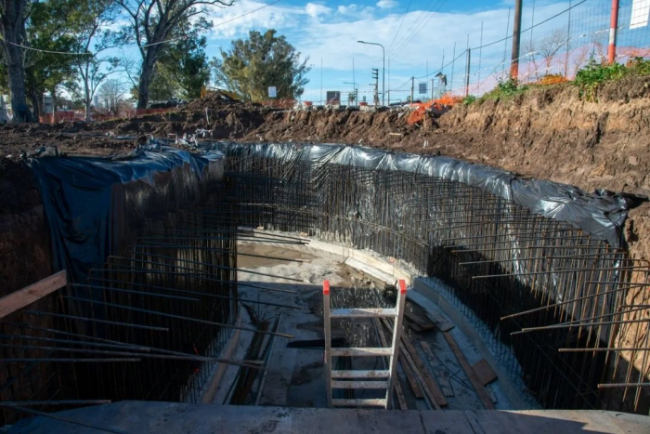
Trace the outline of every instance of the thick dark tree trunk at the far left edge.
[[25, 50], [23, 48], [27, 42], [25, 23], [30, 6], [30, 0], [0, 0], [2, 54], [9, 77], [13, 122], [32, 120], [25, 92]]

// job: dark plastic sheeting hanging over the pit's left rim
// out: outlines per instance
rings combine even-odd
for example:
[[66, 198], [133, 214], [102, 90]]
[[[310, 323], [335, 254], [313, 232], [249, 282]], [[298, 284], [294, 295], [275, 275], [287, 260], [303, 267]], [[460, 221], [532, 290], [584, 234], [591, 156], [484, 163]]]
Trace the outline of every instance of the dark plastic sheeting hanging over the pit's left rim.
[[[162, 190], [156, 175], [187, 167], [194, 179], [186, 183], [200, 184], [206, 168], [222, 159], [217, 151], [196, 155], [159, 145], [119, 157], [30, 158], [51, 232], [54, 270], [66, 269], [72, 281], [82, 282], [89, 269], [101, 266], [113, 253], [119, 233], [116, 219], [123, 211], [114, 208], [125, 202], [114, 196], [118, 186], [142, 181], [149, 190]], [[124, 196], [123, 188], [120, 192]], [[140, 202], [148, 199], [141, 189], [131, 196], [140, 196], [131, 199]]]

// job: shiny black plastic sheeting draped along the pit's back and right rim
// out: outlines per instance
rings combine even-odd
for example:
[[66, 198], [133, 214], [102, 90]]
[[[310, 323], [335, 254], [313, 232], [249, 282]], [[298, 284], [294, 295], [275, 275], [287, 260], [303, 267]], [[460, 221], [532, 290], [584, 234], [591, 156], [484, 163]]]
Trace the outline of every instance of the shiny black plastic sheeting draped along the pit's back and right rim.
[[342, 164], [457, 181], [510, 200], [534, 214], [569, 223], [594, 238], [606, 240], [613, 247], [620, 247], [624, 242], [622, 227], [628, 210], [647, 200], [645, 196], [609, 191], [591, 194], [571, 185], [523, 178], [505, 170], [449, 157], [394, 153], [362, 146], [215, 142], [201, 147], [219, 150], [227, 158], [281, 159], [287, 166], [296, 161], [315, 166]]

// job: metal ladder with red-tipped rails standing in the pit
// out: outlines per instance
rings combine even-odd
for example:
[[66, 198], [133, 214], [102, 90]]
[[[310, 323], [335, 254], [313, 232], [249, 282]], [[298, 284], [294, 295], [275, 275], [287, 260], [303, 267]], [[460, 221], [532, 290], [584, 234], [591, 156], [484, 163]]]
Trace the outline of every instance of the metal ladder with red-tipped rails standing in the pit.
[[[328, 407], [383, 407], [389, 408], [397, 375], [399, 339], [406, 302], [406, 282], [399, 281], [397, 303], [394, 308], [332, 309], [330, 283], [323, 282], [323, 320], [325, 324], [325, 373], [327, 376]], [[390, 347], [378, 348], [332, 348], [332, 319], [337, 318], [394, 318], [393, 339]], [[390, 357], [385, 370], [333, 370], [332, 357]], [[378, 399], [334, 399], [333, 389], [385, 389], [384, 398]]]

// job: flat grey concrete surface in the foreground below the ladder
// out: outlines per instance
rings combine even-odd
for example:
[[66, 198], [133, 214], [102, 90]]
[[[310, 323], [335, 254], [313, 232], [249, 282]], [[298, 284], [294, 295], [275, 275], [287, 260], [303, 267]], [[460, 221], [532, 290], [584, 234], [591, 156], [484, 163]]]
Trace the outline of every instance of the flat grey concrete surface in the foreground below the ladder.
[[[123, 401], [57, 416], [137, 434], [571, 434], [650, 433], [650, 417], [604, 411], [395, 411], [244, 407]], [[10, 434], [96, 434], [88, 427], [37, 417]]]

